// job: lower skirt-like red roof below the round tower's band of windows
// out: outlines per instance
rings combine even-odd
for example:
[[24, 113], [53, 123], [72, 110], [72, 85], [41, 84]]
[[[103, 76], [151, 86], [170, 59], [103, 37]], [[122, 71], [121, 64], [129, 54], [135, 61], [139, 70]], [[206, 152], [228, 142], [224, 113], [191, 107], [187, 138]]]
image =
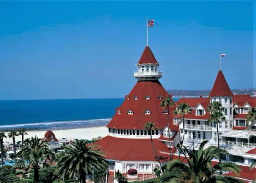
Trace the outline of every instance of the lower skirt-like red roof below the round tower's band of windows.
[[[160, 152], [168, 152], [168, 147], [161, 141], [153, 139], [158, 156], [167, 158]], [[106, 136], [98, 140], [95, 145], [105, 150], [105, 158], [119, 161], [156, 161], [155, 152], [150, 139], [127, 139]]]

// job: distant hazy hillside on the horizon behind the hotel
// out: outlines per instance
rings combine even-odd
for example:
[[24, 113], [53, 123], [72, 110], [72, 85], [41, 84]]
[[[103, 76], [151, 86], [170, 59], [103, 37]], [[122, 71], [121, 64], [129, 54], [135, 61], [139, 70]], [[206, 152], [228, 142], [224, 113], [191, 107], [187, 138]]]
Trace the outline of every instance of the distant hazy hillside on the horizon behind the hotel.
[[[167, 90], [170, 94], [175, 97], [198, 97], [208, 96], [211, 90]], [[256, 97], [256, 89], [233, 89], [231, 90], [234, 94], [249, 94]]]

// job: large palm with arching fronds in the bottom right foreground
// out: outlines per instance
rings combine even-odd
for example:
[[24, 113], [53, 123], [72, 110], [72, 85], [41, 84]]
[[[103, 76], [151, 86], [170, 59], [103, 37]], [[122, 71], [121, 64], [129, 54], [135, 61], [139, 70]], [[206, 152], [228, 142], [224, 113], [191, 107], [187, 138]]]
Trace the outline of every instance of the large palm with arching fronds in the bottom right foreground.
[[[238, 174], [241, 168], [232, 162], [221, 162], [215, 166], [211, 165], [213, 158], [219, 158], [220, 154], [228, 154], [224, 149], [219, 149], [215, 146], [210, 146], [204, 149], [207, 140], [202, 142], [198, 151], [188, 150], [185, 146], [183, 150], [181, 145], [177, 148], [183, 152], [188, 164], [183, 163], [180, 159], [170, 161], [167, 164], [165, 173], [160, 176], [159, 182], [191, 182], [191, 183], [242, 183], [240, 179], [231, 176], [218, 175], [216, 172], [232, 171]], [[188, 157], [186, 156], [188, 154]]]

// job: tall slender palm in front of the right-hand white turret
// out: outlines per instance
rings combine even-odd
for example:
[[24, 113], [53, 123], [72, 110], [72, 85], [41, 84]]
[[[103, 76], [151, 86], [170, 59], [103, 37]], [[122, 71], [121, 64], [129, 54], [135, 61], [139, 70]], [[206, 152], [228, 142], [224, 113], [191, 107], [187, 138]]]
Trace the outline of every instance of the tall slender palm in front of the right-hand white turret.
[[224, 107], [222, 107], [220, 102], [213, 101], [208, 105], [207, 112], [210, 113], [210, 118], [208, 123], [214, 123], [217, 126], [217, 139], [218, 139], [218, 148], [220, 148], [220, 139], [219, 139], [219, 123], [225, 121]]

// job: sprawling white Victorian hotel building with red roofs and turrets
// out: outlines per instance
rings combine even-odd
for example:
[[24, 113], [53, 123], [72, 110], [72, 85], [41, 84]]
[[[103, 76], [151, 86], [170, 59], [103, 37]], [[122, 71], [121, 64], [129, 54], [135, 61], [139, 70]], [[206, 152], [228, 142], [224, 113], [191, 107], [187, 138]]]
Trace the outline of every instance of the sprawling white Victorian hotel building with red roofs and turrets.
[[[136, 85], [125, 96], [123, 104], [116, 109], [115, 115], [106, 126], [108, 135], [95, 143], [105, 150], [105, 158], [113, 162], [109, 167], [112, 176], [117, 170], [126, 174], [131, 168], [136, 169], [139, 176], [150, 175], [155, 167], [159, 167], [150, 134], [143, 129], [146, 122], [155, 123], [157, 129], [152, 132], [153, 143], [158, 156], [168, 160], [167, 109], [160, 107], [160, 104], [169, 94], [158, 81], [162, 77], [158, 66], [151, 49], [146, 46], [137, 63], [138, 70], [134, 73], [138, 79]], [[178, 125], [180, 119], [172, 116], [176, 105], [169, 107], [171, 148], [180, 142], [183, 133], [184, 145], [189, 148], [193, 144], [198, 147], [203, 140], [210, 141], [208, 146], [217, 145], [217, 129], [207, 122], [209, 114], [206, 109], [211, 101], [221, 101], [225, 107], [226, 121], [219, 126], [220, 144], [230, 155], [222, 158], [239, 163], [242, 167], [239, 177], [251, 182], [256, 178], [256, 168], [247, 172], [250, 164], [256, 161], [256, 132], [255, 126], [247, 130], [251, 122], [247, 122], [245, 116], [252, 107], [256, 107], [256, 98], [234, 95], [222, 71], [218, 72], [209, 97], [181, 98], [177, 101], [186, 102], [192, 108], [192, 113], [185, 116], [185, 131], [182, 124]], [[175, 148], [172, 148], [174, 158], [177, 158], [177, 152], [174, 151]]]

